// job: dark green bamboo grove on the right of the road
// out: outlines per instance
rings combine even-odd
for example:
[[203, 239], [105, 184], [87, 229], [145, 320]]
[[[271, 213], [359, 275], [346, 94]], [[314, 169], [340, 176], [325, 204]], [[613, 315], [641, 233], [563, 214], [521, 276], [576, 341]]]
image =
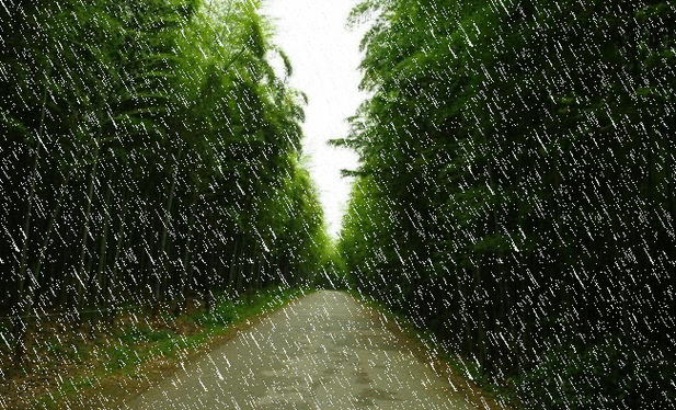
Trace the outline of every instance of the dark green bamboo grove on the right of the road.
[[[676, 400], [676, 8], [367, 0], [357, 288], [526, 408]], [[473, 362], [470, 360], [470, 362]], [[654, 406], [654, 407], [653, 407]]]

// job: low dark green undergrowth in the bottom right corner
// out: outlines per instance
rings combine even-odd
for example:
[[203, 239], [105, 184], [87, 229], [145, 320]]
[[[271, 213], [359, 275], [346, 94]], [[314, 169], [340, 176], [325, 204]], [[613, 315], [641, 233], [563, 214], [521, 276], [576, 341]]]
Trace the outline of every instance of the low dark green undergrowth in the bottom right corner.
[[554, 345], [519, 380], [526, 409], [621, 409], [651, 402], [668, 408], [676, 399], [673, 363], [642, 346], [629, 350], [608, 337], [578, 351]]

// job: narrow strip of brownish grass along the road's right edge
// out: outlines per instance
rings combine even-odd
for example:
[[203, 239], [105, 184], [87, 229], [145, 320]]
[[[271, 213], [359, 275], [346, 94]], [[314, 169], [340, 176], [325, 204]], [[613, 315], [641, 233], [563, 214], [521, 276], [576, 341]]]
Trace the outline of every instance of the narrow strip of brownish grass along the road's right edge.
[[354, 289], [348, 293], [366, 306], [381, 312], [391, 331], [409, 335], [417, 348], [413, 352], [415, 356], [426, 363], [437, 375], [447, 378], [457, 392], [479, 409], [513, 410], [517, 408], [513, 388], [491, 383], [476, 362], [455, 354], [447, 346], [442, 345], [432, 332], [416, 327], [408, 317], [393, 312], [381, 301]]

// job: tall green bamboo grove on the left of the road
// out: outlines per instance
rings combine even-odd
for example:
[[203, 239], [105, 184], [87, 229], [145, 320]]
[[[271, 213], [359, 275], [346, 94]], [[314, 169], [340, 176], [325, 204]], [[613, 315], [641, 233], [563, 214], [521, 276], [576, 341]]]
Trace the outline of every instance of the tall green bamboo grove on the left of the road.
[[328, 239], [306, 101], [257, 7], [0, 8], [0, 316], [18, 351], [33, 315], [310, 283]]

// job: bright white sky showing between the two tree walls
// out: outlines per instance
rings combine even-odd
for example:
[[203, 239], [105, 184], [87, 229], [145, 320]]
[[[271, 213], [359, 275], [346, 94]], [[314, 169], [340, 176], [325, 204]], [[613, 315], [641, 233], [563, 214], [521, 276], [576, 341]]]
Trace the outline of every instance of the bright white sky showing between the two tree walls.
[[341, 169], [356, 169], [357, 156], [331, 147], [347, 135], [346, 118], [367, 95], [358, 91], [359, 42], [366, 27], [346, 27], [357, 0], [266, 0], [262, 13], [276, 27], [274, 43], [291, 60], [291, 87], [308, 95], [303, 124], [306, 167], [319, 190], [329, 234], [337, 237], [351, 191]]

